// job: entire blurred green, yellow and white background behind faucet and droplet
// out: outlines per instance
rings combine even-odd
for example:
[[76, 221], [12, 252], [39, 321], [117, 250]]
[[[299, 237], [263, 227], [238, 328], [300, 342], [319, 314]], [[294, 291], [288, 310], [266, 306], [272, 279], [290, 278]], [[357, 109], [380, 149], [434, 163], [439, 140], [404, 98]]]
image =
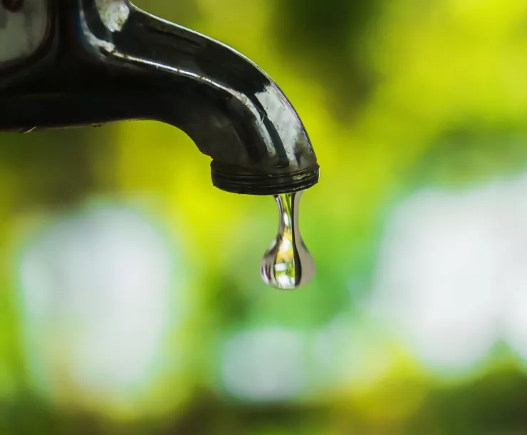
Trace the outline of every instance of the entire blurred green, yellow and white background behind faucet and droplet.
[[0, 135], [0, 433], [526, 434], [526, 2], [137, 4], [291, 98], [318, 274], [175, 128]]

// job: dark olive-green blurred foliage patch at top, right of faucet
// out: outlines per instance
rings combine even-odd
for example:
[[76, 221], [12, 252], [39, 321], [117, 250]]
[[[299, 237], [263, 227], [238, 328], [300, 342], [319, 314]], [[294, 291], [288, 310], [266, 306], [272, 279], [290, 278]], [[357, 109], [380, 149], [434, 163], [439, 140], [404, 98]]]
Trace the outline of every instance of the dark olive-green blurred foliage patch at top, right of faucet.
[[346, 120], [378, 80], [365, 47], [381, 10], [379, 0], [288, 0], [275, 5], [273, 34], [283, 53], [325, 83], [333, 115]]

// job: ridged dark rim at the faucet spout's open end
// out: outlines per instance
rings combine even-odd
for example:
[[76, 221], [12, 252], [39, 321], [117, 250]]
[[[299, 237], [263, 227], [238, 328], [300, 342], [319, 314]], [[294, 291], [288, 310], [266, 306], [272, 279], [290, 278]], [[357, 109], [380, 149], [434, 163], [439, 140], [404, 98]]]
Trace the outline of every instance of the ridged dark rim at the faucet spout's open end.
[[320, 168], [312, 165], [292, 173], [268, 174], [212, 162], [212, 183], [216, 188], [244, 195], [280, 195], [306, 190], [318, 183]]

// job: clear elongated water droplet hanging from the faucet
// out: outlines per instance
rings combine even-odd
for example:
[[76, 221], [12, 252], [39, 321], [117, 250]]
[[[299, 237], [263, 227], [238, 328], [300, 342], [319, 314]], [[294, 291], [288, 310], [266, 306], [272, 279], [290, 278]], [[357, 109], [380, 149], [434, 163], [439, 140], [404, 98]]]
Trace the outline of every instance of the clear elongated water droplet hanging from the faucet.
[[315, 261], [298, 228], [298, 204], [303, 192], [284, 193], [274, 198], [278, 204], [278, 235], [261, 260], [261, 277], [281, 290], [307, 285], [315, 276]]

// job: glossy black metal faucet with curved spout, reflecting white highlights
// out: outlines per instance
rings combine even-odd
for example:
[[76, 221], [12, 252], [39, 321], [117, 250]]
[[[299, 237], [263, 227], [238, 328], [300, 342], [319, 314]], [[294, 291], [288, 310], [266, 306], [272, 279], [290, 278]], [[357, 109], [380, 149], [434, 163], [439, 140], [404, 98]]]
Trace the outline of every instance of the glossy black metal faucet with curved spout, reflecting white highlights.
[[0, 131], [157, 120], [212, 157], [223, 190], [276, 195], [318, 182], [300, 118], [249, 59], [126, 0], [50, 8], [41, 50], [0, 68]]

